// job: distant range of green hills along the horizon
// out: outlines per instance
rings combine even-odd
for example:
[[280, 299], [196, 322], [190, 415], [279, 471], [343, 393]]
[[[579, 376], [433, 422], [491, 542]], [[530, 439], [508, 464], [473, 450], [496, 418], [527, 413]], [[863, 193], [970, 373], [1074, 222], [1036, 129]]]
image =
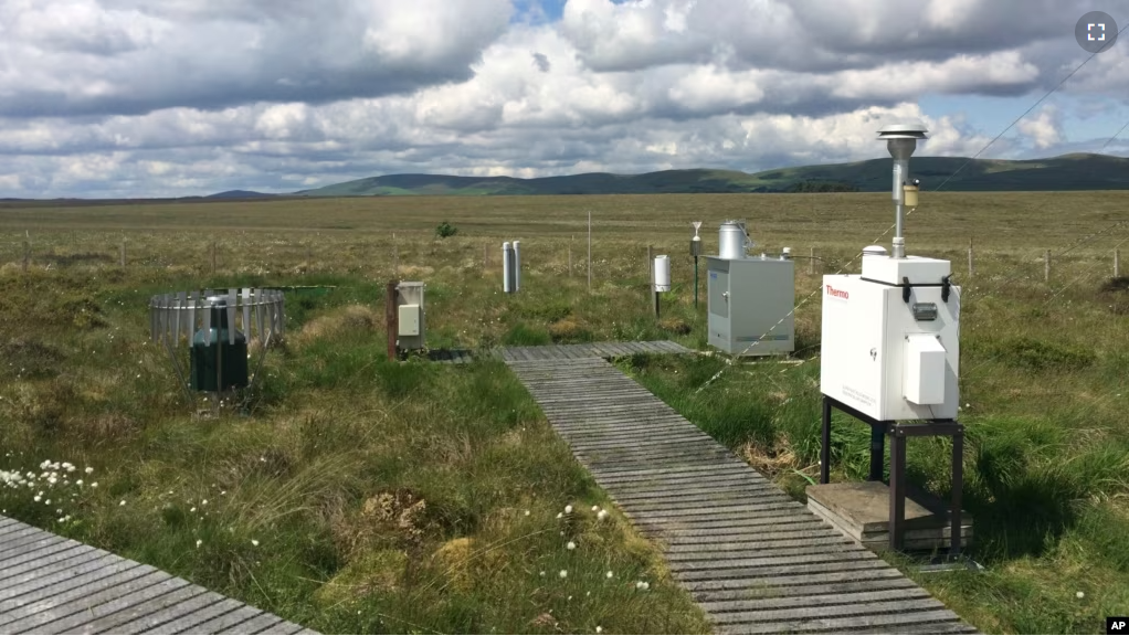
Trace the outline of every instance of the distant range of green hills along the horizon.
[[[1080, 191], [1129, 189], [1129, 159], [1105, 154], [1065, 154], [1050, 159], [1005, 161], [961, 157], [917, 157], [910, 169], [931, 191]], [[663, 170], [644, 175], [590, 173], [563, 177], [456, 177], [387, 175], [295, 193], [299, 196], [507, 195], [507, 194], [665, 194], [885, 192], [891, 160], [802, 166], [746, 174], [735, 170]], [[954, 173], [964, 166], [959, 174]], [[952, 177], [952, 178], [949, 178]], [[945, 183], [945, 180], [947, 183]]]

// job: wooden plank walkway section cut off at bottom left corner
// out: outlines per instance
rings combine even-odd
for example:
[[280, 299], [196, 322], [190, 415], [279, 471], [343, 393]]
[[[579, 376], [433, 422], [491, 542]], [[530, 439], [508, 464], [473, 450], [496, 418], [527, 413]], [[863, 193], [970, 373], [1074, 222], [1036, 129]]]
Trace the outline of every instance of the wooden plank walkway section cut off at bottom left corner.
[[0, 634], [317, 634], [0, 516]]

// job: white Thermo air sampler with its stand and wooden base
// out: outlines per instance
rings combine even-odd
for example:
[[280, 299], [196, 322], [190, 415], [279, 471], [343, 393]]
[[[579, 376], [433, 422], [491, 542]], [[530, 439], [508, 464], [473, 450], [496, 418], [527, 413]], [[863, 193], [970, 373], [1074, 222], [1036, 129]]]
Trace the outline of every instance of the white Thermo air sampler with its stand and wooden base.
[[[889, 542], [902, 550], [947, 544], [956, 556], [971, 523], [961, 512], [963, 427], [956, 422], [961, 288], [949, 280], [948, 260], [905, 255], [905, 207], [918, 204], [909, 160], [918, 140], [927, 139], [925, 125], [887, 125], [878, 139], [894, 159], [896, 231], [890, 253], [864, 248], [861, 274], [823, 276], [823, 449], [821, 485], [808, 488], [809, 507], [840, 528], [861, 528], [856, 539], [864, 545]], [[832, 408], [870, 425], [870, 472], [864, 484], [829, 484]], [[883, 484], [887, 435], [889, 487]], [[917, 435], [953, 439], [947, 506], [926, 495], [907, 502], [905, 439]], [[874, 518], [887, 503], [889, 514]], [[867, 536], [867, 528], [877, 535]]]

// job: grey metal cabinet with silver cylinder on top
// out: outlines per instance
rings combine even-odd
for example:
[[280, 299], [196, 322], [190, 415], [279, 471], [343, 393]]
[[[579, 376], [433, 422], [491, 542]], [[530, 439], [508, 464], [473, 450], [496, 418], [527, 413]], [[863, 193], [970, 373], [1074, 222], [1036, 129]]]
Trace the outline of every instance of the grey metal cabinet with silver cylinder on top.
[[749, 258], [752, 245], [743, 221], [726, 221], [718, 230], [718, 255], [706, 257], [709, 345], [736, 357], [791, 353], [794, 262], [788, 253]]

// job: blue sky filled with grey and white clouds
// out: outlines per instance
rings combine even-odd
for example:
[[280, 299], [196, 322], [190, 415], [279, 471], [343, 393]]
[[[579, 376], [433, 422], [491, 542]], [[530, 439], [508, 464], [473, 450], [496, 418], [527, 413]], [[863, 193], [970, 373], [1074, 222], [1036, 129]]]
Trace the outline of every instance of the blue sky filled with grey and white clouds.
[[[1089, 53], [1075, 0], [0, 0], [0, 197], [971, 156]], [[1127, 32], [1129, 34], [1129, 32]], [[1129, 36], [982, 157], [1101, 151]], [[1129, 130], [1105, 147], [1129, 154]]]

